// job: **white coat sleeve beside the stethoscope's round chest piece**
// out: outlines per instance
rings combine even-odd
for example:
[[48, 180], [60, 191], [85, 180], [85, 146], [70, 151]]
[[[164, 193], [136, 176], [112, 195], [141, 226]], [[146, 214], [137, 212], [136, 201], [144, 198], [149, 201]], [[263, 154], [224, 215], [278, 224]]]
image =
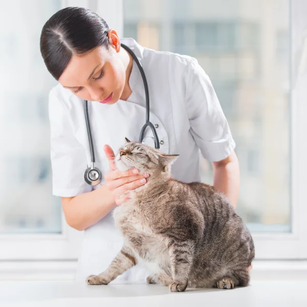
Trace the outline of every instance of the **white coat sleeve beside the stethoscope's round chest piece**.
[[74, 135], [69, 112], [53, 91], [49, 94], [49, 120], [53, 195], [72, 197], [91, 191], [83, 178], [85, 148]]

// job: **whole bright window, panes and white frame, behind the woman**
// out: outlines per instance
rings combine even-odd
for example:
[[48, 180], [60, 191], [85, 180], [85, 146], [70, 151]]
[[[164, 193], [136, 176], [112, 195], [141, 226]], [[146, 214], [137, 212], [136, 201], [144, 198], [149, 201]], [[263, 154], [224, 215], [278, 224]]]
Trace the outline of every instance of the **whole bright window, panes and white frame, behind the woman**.
[[[56, 82], [42, 62], [38, 43], [42, 25], [65, 6], [89, 7], [121, 37], [134, 37], [145, 47], [199, 60], [237, 144], [241, 171], [237, 211], [252, 230], [256, 257], [307, 256], [303, 45], [307, 5], [302, 0], [260, 4], [225, 0], [222, 7], [220, 3], [13, 0], [0, 4], [0, 29], [5, 29], [0, 31], [0, 81], [5, 85], [0, 98], [0, 259], [78, 255], [80, 232], [67, 227], [59, 199], [51, 193], [47, 97]], [[15, 18], [7, 11], [14, 11]], [[22, 82], [16, 80], [16, 71]], [[202, 159], [201, 165], [203, 181], [211, 183], [211, 164]], [[36, 208], [35, 214], [27, 215], [27, 208]]]

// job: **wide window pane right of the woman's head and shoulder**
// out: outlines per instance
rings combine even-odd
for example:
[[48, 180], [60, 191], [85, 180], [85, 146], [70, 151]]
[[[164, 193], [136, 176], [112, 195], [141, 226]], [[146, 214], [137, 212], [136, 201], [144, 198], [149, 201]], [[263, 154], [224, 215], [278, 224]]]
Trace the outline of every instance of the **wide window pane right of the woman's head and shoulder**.
[[[156, 25], [159, 50], [193, 56], [209, 75], [236, 142], [237, 212], [254, 232], [291, 230], [289, 2], [158, 0], [155, 10], [146, 0], [123, 2], [124, 37], [131, 24]], [[212, 184], [203, 158], [201, 171]]]

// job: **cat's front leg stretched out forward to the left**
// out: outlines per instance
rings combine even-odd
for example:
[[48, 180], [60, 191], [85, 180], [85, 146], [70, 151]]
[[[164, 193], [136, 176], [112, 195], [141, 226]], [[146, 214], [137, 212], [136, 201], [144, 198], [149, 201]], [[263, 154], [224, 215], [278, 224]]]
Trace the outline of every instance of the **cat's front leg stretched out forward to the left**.
[[99, 275], [90, 275], [86, 277], [87, 284], [108, 284], [117, 276], [123, 274], [128, 269], [137, 264], [137, 260], [131, 249], [123, 246], [108, 268]]

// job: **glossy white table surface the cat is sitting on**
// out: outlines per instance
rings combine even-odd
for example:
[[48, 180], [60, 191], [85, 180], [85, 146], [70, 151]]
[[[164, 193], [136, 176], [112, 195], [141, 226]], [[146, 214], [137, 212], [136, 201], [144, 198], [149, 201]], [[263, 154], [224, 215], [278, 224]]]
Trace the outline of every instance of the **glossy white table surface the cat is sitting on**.
[[307, 306], [307, 280], [255, 280], [232, 290], [171, 293], [157, 284], [89, 286], [79, 281], [0, 281], [0, 306]]

